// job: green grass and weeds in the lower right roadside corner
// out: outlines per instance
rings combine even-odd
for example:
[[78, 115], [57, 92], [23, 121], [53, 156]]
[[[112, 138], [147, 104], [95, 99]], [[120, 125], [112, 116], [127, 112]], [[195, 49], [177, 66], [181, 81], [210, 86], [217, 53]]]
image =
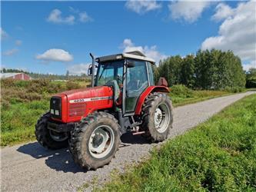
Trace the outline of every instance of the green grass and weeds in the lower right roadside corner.
[[254, 94], [163, 144], [103, 190], [255, 191], [255, 114]]

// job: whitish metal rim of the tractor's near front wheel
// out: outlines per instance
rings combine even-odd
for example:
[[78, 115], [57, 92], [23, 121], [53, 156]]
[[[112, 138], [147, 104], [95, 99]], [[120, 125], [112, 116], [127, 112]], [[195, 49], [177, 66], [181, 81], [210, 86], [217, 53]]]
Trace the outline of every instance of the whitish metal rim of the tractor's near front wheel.
[[88, 148], [92, 157], [103, 158], [110, 153], [113, 145], [113, 130], [107, 125], [101, 125], [91, 133]]

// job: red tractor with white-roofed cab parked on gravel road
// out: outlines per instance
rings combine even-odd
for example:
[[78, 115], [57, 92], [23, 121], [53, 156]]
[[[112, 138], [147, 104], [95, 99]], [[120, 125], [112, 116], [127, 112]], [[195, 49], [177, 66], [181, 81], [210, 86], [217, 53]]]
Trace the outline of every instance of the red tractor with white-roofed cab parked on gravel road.
[[173, 111], [165, 79], [154, 83], [151, 58], [139, 51], [91, 58], [91, 88], [55, 94], [35, 135], [49, 149], [69, 145], [77, 164], [95, 170], [111, 161], [128, 131], [164, 141]]

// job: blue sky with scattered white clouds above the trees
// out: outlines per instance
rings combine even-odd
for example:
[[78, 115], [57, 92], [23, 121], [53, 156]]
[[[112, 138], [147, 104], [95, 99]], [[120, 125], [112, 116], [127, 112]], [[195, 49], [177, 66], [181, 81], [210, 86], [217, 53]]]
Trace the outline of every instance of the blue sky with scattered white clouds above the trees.
[[252, 5], [255, 2], [2, 2], [1, 65], [80, 74], [88, 68], [90, 51], [100, 56], [140, 50], [159, 61], [199, 48], [219, 48], [233, 50], [247, 69], [256, 65]]

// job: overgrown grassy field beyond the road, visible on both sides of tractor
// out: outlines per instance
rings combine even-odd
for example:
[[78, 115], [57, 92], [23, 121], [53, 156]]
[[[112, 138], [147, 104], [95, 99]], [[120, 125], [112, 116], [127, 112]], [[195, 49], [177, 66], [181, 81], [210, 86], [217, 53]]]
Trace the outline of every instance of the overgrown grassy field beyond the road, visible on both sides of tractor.
[[[49, 108], [49, 98], [57, 92], [85, 88], [85, 81], [1, 81], [1, 146], [35, 140], [38, 118]], [[174, 106], [230, 94], [231, 91], [192, 91], [182, 85], [171, 88]]]

